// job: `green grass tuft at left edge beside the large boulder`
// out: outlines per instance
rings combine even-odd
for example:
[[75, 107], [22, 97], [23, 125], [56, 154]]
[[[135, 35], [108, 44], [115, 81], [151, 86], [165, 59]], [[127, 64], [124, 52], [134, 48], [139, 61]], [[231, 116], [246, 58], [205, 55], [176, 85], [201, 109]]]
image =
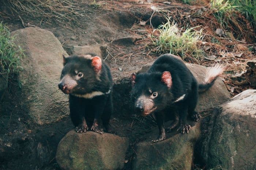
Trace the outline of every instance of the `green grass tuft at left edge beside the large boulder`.
[[11, 36], [10, 30], [0, 23], [0, 74], [18, 73], [22, 70], [20, 59], [24, 56], [23, 50], [14, 43], [15, 37]]

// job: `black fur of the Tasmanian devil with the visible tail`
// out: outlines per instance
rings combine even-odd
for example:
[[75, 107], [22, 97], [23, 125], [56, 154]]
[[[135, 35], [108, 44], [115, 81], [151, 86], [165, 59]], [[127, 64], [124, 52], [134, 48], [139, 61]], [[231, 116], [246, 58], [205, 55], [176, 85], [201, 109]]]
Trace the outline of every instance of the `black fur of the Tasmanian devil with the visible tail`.
[[[162, 73], [166, 71], [170, 72], [172, 76], [172, 86], [170, 88], [161, 79]], [[140, 73], [136, 76], [132, 89], [132, 98], [135, 103], [142, 95], [152, 99], [154, 92], [158, 93], [157, 97], [153, 97], [153, 103], [157, 109], [152, 113], [155, 114], [159, 127], [159, 137], [154, 142], [166, 138], [164, 126], [166, 118], [174, 120], [167, 131], [174, 128], [178, 124], [177, 121], [179, 121], [182, 134], [184, 132], [188, 133], [191, 127], [187, 124], [187, 115], [190, 115], [196, 121], [199, 119], [199, 115], [195, 111], [198, 84], [185, 63], [177, 56], [172, 54], [161, 55], [146, 73]], [[184, 94], [185, 97], [177, 101]]]

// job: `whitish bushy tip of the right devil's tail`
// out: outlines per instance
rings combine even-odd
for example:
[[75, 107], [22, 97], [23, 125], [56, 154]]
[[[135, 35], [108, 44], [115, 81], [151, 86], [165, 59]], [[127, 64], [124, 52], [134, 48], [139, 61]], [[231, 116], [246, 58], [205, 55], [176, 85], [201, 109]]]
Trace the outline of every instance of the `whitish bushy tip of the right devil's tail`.
[[204, 78], [204, 84], [211, 83], [214, 81], [219, 75], [221, 75], [225, 70], [225, 66], [221, 64], [215, 64], [212, 67], [207, 68], [207, 72]]

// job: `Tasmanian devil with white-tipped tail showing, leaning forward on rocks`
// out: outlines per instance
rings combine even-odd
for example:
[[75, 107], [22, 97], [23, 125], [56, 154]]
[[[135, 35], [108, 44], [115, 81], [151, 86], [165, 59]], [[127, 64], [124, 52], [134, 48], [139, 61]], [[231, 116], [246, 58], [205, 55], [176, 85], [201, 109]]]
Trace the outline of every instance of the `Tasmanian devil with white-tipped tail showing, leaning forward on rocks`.
[[[210, 69], [209, 69], [210, 68]], [[223, 66], [209, 67], [202, 84], [197, 84], [185, 63], [172, 54], [161, 55], [146, 73], [132, 74], [132, 99], [135, 110], [142, 116], [154, 113], [159, 137], [153, 142], [166, 139], [165, 118], [174, 120], [167, 128], [172, 130], [179, 123], [181, 133], [189, 132], [187, 115], [199, 120], [195, 111], [198, 92], [209, 89], [224, 71]]]

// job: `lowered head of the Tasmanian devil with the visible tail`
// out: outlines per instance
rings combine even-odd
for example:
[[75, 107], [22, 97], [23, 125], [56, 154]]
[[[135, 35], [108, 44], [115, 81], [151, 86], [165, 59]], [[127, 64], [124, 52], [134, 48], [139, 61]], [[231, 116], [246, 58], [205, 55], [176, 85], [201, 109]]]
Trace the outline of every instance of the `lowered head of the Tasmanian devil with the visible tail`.
[[132, 100], [141, 116], [162, 111], [170, 103], [170, 72], [132, 74]]

